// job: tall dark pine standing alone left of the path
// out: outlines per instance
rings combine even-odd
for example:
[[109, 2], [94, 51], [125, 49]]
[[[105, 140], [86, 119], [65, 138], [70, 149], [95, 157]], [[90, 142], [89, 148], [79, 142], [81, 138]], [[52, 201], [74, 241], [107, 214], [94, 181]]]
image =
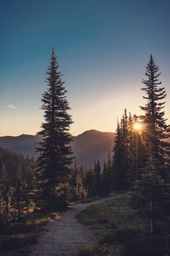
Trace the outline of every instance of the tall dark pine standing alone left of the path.
[[39, 200], [44, 208], [65, 208], [68, 199], [68, 176], [71, 164], [72, 137], [68, 132], [72, 124], [66, 88], [62, 82], [61, 72], [54, 49], [48, 67], [48, 89], [42, 95], [42, 111], [45, 121], [38, 135], [42, 136], [37, 152], [37, 188]]

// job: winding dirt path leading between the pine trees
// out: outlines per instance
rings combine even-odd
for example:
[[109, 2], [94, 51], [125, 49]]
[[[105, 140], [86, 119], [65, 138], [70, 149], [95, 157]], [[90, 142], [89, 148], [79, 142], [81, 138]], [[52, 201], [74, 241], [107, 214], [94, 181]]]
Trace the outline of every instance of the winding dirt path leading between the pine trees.
[[81, 247], [94, 245], [97, 240], [86, 226], [79, 223], [75, 216], [89, 205], [95, 205], [112, 197], [103, 197], [94, 202], [75, 203], [60, 218], [47, 224], [48, 231], [45, 231], [38, 244], [31, 247], [30, 256], [76, 256]]

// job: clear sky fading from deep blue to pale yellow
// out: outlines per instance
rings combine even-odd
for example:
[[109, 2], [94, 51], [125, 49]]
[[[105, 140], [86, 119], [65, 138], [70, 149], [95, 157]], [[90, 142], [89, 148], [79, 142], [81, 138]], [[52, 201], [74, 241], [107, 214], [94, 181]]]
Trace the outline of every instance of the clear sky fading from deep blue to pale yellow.
[[169, 0], [0, 0], [0, 136], [35, 135], [52, 48], [74, 123], [115, 132], [124, 108], [142, 114], [150, 55], [170, 119]]

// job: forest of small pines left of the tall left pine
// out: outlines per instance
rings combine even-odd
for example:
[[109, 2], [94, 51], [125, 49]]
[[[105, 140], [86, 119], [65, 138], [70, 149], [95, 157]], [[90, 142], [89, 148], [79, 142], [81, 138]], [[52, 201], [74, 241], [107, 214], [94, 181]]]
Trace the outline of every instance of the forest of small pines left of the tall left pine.
[[0, 224], [19, 219], [31, 208], [34, 159], [0, 148]]

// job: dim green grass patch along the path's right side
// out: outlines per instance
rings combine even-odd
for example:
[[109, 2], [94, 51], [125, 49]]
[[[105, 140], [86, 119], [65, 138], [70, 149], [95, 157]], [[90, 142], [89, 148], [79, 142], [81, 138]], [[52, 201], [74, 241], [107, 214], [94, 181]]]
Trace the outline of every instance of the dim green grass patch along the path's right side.
[[148, 226], [130, 207], [130, 195], [91, 205], [76, 218], [91, 229], [99, 240], [97, 248], [84, 248], [79, 256], [119, 256], [123, 244], [128, 239], [142, 236]]

